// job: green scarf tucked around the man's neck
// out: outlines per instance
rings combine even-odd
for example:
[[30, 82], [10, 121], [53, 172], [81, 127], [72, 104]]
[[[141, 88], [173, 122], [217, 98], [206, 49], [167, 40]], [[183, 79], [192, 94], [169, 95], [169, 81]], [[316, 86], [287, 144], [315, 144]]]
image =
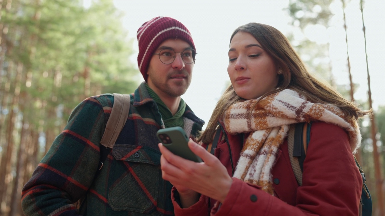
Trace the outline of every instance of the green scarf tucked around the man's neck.
[[162, 115], [162, 120], [164, 122], [164, 126], [166, 128], [179, 126], [183, 128], [183, 113], [186, 109], [186, 103], [184, 103], [184, 100], [181, 98], [181, 102], [179, 103], [178, 111], [175, 113], [174, 116], [172, 116], [170, 109], [163, 103], [161, 98], [153, 91], [146, 83], [146, 88], [151, 96], [152, 99], [156, 102], [159, 108], [159, 113]]

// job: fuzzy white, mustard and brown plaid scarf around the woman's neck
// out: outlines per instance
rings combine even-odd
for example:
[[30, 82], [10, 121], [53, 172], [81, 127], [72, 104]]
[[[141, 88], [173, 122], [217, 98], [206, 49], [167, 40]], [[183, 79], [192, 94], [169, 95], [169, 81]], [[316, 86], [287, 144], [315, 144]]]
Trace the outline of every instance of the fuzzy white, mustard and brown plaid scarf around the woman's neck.
[[336, 106], [311, 103], [289, 89], [266, 96], [253, 108], [257, 100], [231, 105], [224, 114], [224, 125], [229, 133], [251, 132], [245, 140], [234, 177], [259, 185], [269, 194], [274, 194], [271, 169], [290, 124], [308, 121], [332, 123], [348, 133], [353, 153], [361, 143], [357, 121], [345, 117]]

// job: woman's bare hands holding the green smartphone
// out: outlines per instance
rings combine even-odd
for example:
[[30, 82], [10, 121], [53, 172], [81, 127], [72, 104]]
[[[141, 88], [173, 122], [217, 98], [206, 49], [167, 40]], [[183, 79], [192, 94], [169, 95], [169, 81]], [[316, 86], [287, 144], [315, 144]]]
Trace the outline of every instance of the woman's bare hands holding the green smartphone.
[[195, 196], [195, 201], [192, 203], [194, 204], [198, 201], [196, 198], [199, 198], [198, 194], [192, 192], [196, 191], [223, 203], [233, 182], [226, 168], [218, 158], [194, 141], [190, 140], [188, 145], [191, 151], [204, 161], [203, 163], [195, 163], [174, 155], [159, 143], [162, 153], [162, 178], [175, 186], [181, 196], [181, 201], [182, 196], [189, 202]]

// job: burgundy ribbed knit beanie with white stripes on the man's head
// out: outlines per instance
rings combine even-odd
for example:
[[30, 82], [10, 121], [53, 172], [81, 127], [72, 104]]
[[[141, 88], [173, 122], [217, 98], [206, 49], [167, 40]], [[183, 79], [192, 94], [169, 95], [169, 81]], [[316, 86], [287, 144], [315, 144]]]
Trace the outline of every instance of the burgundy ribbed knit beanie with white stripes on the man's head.
[[[195, 50], [189, 30], [171, 17], [155, 17], [143, 23], [136, 33], [139, 44], [138, 66], [147, 82], [147, 68], [159, 45], [169, 38], [182, 39]], [[195, 56], [192, 56], [195, 59]]]

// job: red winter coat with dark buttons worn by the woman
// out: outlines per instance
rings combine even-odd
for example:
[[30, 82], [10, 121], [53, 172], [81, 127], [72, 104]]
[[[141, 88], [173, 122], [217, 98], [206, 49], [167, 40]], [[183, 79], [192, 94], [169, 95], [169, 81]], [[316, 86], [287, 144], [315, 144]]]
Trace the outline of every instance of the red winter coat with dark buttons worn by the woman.
[[[226, 136], [228, 142], [226, 139], [219, 141], [214, 155], [232, 176], [243, 136], [228, 133]], [[291, 168], [287, 139], [278, 151], [271, 174], [275, 196], [264, 192], [259, 186], [233, 177], [224, 203], [217, 202], [214, 208], [215, 200], [202, 195], [196, 204], [182, 209], [177, 202], [177, 191], [173, 188], [174, 213], [176, 216], [204, 216], [210, 215], [210, 211], [215, 216], [358, 215], [362, 176], [350, 150], [348, 135], [336, 125], [325, 122], [311, 125], [310, 142], [303, 163], [302, 186], [298, 186]]]

